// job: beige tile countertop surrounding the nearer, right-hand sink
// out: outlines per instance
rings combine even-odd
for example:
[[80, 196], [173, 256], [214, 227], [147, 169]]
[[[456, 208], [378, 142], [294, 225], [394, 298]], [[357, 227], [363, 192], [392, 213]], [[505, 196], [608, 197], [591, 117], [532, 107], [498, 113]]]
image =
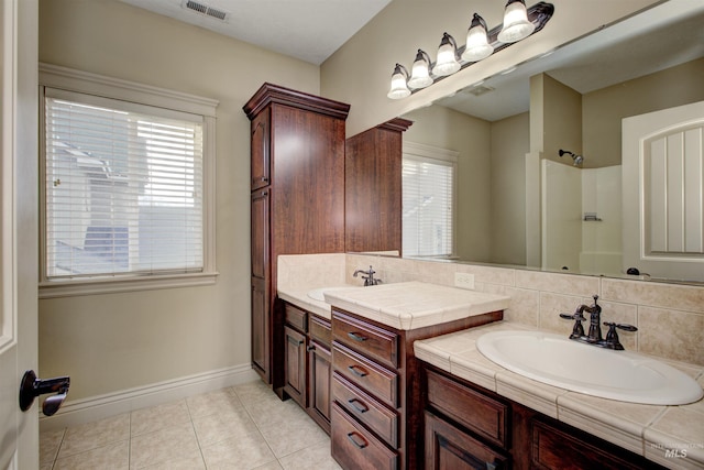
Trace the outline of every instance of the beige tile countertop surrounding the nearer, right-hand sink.
[[[570, 392], [510, 372], [486, 359], [475, 347], [476, 339], [485, 332], [517, 329], [531, 328], [497, 321], [416, 341], [414, 353], [455, 376], [664, 467], [704, 469], [704, 400], [682, 406], [641, 405]], [[704, 367], [658, 359], [704, 385]]]

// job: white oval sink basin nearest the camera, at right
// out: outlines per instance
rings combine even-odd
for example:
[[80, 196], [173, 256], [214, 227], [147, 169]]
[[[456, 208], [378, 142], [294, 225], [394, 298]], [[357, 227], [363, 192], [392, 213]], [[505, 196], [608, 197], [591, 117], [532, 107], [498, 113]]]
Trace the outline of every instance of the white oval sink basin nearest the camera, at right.
[[684, 372], [630, 351], [613, 351], [540, 331], [494, 331], [476, 348], [491, 361], [550, 385], [651, 405], [698, 401], [702, 387]]

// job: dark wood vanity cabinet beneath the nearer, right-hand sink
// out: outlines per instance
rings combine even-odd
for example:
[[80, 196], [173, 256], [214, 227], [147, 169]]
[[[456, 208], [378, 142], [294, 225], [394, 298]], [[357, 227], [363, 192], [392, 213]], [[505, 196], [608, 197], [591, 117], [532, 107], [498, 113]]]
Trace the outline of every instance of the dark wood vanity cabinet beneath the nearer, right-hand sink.
[[662, 469], [432, 365], [422, 382], [426, 469]]

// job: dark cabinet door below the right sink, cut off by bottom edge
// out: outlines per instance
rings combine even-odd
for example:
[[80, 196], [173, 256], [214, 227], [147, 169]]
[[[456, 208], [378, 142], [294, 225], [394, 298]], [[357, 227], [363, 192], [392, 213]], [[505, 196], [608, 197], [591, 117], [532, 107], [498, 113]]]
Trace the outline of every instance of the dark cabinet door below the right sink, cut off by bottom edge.
[[487, 470], [507, 468], [507, 458], [463, 430], [426, 412], [426, 469]]

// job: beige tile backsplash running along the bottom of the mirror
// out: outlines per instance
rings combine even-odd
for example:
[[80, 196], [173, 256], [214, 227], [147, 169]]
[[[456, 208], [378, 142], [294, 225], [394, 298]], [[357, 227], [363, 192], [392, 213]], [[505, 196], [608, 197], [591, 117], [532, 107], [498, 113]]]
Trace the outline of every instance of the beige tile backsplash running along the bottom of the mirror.
[[627, 350], [697, 365], [704, 364], [704, 286], [662, 284], [574, 274], [546, 273], [475, 264], [348, 254], [346, 277], [373, 265], [386, 283], [424, 281], [454, 285], [454, 273], [474, 275], [475, 289], [510, 297], [504, 318], [569, 336], [572, 324], [560, 313], [574, 313], [600, 296], [604, 321], [638, 327], [619, 332]]

